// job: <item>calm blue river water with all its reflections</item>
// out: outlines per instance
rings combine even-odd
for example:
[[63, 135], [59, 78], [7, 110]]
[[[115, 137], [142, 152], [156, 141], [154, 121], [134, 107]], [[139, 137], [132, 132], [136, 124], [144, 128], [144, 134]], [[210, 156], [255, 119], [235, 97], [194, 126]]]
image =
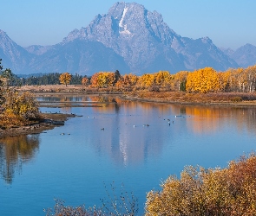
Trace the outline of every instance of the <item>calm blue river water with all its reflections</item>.
[[115, 194], [123, 184], [143, 213], [147, 192], [168, 175], [179, 176], [186, 165], [223, 168], [256, 149], [255, 108], [96, 96], [38, 100], [88, 106], [41, 108], [81, 117], [38, 135], [0, 138], [0, 215], [45, 215], [55, 198], [101, 206], [113, 181]]

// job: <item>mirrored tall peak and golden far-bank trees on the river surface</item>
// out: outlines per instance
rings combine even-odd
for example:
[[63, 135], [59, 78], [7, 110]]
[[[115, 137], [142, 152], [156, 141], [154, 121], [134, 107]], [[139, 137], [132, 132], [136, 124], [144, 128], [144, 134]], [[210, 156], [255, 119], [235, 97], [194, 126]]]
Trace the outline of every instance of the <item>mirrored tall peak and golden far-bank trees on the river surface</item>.
[[89, 143], [100, 154], [107, 153], [125, 166], [143, 162], [148, 156], [160, 156], [164, 145], [175, 145], [188, 133], [214, 136], [221, 130], [246, 130], [256, 134], [255, 108], [154, 104], [120, 98], [115, 101], [115, 105], [93, 107], [95, 113], [105, 113], [106, 119], [90, 124], [89, 133], [101, 127], [105, 130]]

